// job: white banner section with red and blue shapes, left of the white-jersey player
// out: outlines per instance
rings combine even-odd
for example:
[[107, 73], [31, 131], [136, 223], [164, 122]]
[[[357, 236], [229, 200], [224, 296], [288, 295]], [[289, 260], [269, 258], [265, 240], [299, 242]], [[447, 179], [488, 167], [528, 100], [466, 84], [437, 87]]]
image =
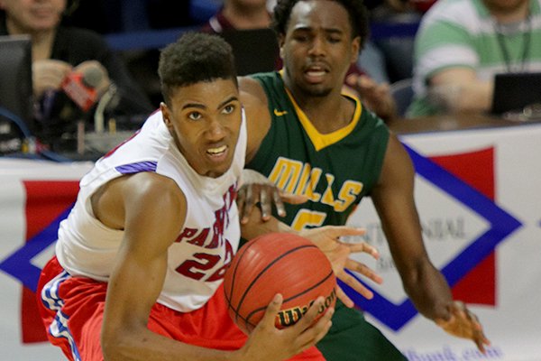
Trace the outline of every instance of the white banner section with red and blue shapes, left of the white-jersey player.
[[0, 360], [64, 359], [59, 347], [43, 342], [32, 291], [54, 253], [58, 218], [75, 200], [78, 180], [90, 166], [0, 159]]

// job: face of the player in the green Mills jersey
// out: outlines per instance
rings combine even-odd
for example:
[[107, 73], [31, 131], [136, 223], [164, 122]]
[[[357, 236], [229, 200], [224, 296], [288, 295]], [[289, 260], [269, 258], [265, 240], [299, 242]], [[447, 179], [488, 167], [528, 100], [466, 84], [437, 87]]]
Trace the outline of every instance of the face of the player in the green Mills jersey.
[[359, 46], [360, 38], [352, 39], [343, 5], [327, 0], [299, 1], [289, 16], [285, 37], [280, 39], [286, 84], [297, 95], [309, 97], [340, 92]]

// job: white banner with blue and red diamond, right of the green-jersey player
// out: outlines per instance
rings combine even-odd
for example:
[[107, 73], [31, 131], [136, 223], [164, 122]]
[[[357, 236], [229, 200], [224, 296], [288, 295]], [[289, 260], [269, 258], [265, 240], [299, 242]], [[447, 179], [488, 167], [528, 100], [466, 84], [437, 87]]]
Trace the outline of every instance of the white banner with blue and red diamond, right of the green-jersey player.
[[[412, 307], [370, 199], [350, 224], [379, 247], [384, 278], [371, 320], [411, 361], [541, 360], [541, 125], [400, 137], [417, 171], [416, 202], [432, 262], [491, 340], [486, 356]], [[367, 259], [362, 259], [367, 264]]]

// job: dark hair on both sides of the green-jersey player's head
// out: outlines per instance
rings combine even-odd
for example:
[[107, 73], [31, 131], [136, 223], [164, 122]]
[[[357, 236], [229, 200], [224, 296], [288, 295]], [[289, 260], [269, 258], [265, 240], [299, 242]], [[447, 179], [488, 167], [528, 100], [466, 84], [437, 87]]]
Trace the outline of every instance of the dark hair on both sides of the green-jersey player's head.
[[[285, 35], [288, 30], [291, 10], [298, 2], [304, 0], [278, 0], [272, 13], [271, 27], [279, 35]], [[349, 14], [349, 21], [352, 28], [352, 38], [361, 37], [361, 45], [368, 37], [368, 10], [362, 0], [326, 0], [335, 1], [344, 6]]]

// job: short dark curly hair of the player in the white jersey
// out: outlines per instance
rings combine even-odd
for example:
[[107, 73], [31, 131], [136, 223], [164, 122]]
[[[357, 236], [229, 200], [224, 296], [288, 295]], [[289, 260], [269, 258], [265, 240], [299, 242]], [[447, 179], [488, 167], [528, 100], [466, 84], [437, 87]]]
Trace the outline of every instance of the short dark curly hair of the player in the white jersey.
[[203, 32], [186, 32], [161, 50], [158, 74], [161, 95], [168, 105], [180, 87], [216, 79], [232, 79], [237, 85], [231, 46], [221, 37]]

